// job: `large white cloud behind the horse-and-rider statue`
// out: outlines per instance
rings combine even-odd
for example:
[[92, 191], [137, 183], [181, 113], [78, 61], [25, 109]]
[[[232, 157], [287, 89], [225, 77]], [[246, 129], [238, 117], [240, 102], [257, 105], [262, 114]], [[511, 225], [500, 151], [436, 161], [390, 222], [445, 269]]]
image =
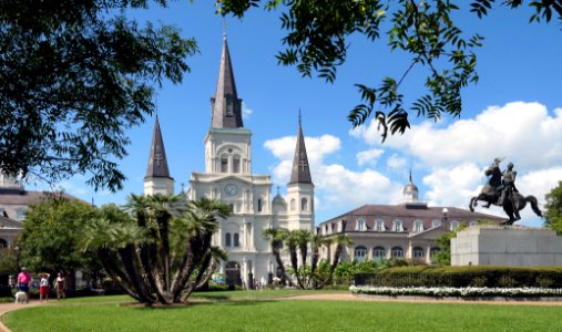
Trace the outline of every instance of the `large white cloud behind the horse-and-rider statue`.
[[[380, 145], [374, 121], [350, 135]], [[518, 188], [542, 205], [544, 195], [562, 180], [562, 108], [549, 113], [540, 103], [524, 102], [490, 106], [449, 125], [422, 122], [402, 136], [389, 136], [384, 146], [400, 151], [418, 169], [427, 170], [423, 185], [430, 204], [468, 208], [470, 197], [486, 183], [486, 167], [494, 157], [505, 157], [501, 167], [513, 162]], [[387, 159], [389, 167], [392, 163]], [[479, 210], [503, 215], [499, 207]], [[522, 217], [537, 219], [530, 208]]]

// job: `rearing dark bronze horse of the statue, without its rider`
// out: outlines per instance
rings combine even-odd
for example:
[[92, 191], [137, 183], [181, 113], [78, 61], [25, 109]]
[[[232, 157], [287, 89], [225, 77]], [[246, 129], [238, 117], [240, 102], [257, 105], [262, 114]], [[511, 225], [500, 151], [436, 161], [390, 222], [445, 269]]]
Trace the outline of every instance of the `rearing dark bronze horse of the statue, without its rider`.
[[[474, 207], [478, 206], [478, 200], [486, 201], [486, 208], [489, 208], [492, 204], [500, 206], [498, 204], [501, 195], [501, 190], [499, 190], [499, 188], [502, 185], [502, 173], [500, 170], [500, 167], [498, 165], [492, 165], [486, 170], [484, 174], [490, 178], [488, 179], [488, 183], [482, 187], [480, 194], [470, 199], [470, 210], [472, 212], [474, 211]], [[505, 211], [509, 217], [509, 220], [505, 221], [505, 225], [513, 225], [514, 221], [519, 220], [519, 218], [515, 218], [515, 215], [519, 216], [519, 211], [527, 206], [527, 203], [531, 204], [531, 208], [537, 214], [537, 216], [542, 217], [537, 197], [532, 195], [523, 196], [514, 190], [511, 190], [509, 194], [511, 199], [504, 199], [502, 204], [503, 211]]]

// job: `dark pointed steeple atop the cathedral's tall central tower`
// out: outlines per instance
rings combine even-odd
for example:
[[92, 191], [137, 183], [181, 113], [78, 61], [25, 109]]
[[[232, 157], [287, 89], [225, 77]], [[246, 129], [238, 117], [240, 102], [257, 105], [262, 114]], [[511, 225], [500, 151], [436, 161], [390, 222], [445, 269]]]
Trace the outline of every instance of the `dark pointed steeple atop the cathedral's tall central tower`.
[[242, 100], [236, 93], [234, 72], [231, 63], [231, 53], [226, 34], [223, 39], [223, 53], [221, 55], [221, 68], [218, 70], [218, 82], [216, 83], [215, 97], [211, 98], [213, 128], [241, 128], [242, 123]]

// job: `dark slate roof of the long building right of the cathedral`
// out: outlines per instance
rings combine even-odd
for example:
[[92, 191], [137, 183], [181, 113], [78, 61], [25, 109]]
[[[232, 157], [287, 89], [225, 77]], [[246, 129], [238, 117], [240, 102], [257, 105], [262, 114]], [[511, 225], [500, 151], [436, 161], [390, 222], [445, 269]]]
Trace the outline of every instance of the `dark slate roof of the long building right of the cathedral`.
[[[320, 227], [325, 224], [336, 224], [340, 220], [347, 220], [346, 231], [354, 231], [356, 228], [357, 219], [364, 218], [367, 224], [367, 230], [375, 229], [375, 220], [382, 219], [385, 221], [385, 229], [392, 228], [395, 219], [402, 220], [403, 231], [409, 232], [412, 229], [413, 221], [420, 219], [423, 224], [423, 229], [431, 228], [431, 221], [443, 220], [445, 207], [428, 207], [425, 204], [401, 204], [401, 205], [364, 205], [355, 210], [348, 211], [336, 218], [320, 222]], [[498, 216], [471, 212], [470, 210], [460, 209], [456, 207], [447, 207], [447, 220], [462, 222], [470, 222], [478, 219], [488, 219], [494, 222], [503, 222], [505, 218]]]

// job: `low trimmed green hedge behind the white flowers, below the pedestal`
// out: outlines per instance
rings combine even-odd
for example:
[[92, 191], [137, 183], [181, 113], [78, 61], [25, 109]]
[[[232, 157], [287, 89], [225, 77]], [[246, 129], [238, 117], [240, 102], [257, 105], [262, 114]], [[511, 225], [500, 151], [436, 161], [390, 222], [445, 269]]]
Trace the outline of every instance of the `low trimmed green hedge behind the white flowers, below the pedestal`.
[[355, 284], [562, 288], [562, 267], [400, 267], [375, 274], [357, 274]]

